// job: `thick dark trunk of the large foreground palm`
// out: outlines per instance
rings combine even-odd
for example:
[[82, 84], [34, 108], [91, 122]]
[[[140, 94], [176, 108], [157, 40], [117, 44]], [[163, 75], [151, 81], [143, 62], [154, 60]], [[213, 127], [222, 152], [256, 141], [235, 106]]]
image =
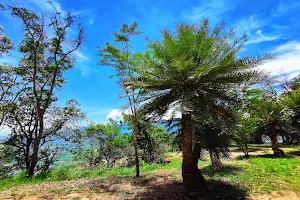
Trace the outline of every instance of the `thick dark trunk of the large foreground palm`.
[[205, 180], [198, 169], [198, 159], [193, 156], [193, 126], [191, 114], [182, 114], [183, 162], [182, 178], [187, 190], [205, 191]]

